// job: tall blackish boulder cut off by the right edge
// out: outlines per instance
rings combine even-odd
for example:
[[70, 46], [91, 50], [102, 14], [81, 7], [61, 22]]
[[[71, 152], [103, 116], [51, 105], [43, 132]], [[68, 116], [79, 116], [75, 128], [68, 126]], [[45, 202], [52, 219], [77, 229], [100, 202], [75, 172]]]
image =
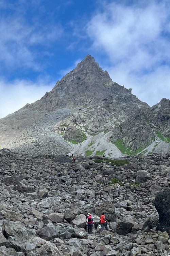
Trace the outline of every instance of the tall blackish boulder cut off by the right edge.
[[157, 194], [154, 204], [159, 214], [157, 230], [170, 234], [170, 189]]

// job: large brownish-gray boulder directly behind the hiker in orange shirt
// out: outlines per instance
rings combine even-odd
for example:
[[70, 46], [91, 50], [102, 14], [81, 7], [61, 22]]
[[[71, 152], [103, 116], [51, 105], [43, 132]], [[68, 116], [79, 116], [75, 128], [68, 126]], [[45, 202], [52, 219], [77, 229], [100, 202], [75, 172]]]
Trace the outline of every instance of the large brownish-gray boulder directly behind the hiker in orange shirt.
[[115, 221], [115, 207], [114, 204], [108, 201], [100, 204], [99, 206], [95, 207], [95, 213], [98, 216], [101, 216], [102, 212], [104, 212], [107, 221]]

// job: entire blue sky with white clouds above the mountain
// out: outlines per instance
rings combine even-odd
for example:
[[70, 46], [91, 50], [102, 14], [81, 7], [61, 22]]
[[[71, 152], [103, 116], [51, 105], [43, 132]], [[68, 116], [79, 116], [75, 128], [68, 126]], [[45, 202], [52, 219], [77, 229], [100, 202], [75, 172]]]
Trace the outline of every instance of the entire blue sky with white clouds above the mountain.
[[87, 54], [150, 105], [170, 98], [167, 0], [0, 0], [0, 118], [41, 98]]

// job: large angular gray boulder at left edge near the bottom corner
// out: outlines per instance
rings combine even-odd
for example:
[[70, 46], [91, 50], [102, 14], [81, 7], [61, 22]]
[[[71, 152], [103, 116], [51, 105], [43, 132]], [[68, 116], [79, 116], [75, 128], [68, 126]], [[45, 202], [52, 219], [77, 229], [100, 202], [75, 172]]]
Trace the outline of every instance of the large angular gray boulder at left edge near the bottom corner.
[[35, 229], [28, 229], [18, 221], [3, 221], [2, 233], [5, 237], [15, 237], [15, 241], [18, 242], [26, 241], [36, 236]]

